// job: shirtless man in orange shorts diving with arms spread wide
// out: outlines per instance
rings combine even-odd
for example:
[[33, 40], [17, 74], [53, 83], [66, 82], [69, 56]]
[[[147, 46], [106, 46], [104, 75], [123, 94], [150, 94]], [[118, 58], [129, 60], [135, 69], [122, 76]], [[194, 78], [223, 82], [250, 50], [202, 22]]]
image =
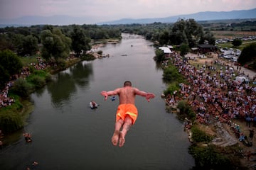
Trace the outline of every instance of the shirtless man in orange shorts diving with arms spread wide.
[[[154, 98], [155, 95], [132, 87], [131, 81], [125, 81], [124, 87], [115, 89], [114, 91], [102, 91], [101, 94], [105, 96], [105, 101], [107, 100], [107, 96], [119, 96], [119, 106], [117, 108], [112, 144], [117, 146], [119, 142], [119, 147], [122, 147], [124, 146], [125, 135], [127, 135], [127, 132], [137, 120], [138, 111], [135, 106], [136, 95], [146, 97], [147, 101], [149, 101], [150, 98]], [[121, 129], [122, 131], [120, 131]]]

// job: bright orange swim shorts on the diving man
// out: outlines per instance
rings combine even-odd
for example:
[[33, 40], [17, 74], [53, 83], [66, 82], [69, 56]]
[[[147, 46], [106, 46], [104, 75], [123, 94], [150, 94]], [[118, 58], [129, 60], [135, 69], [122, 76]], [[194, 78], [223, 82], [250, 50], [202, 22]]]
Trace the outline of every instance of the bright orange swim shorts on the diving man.
[[127, 116], [132, 118], [132, 125], [133, 125], [138, 116], [138, 111], [136, 106], [134, 106], [133, 104], [120, 104], [117, 108], [116, 122], [119, 119], [124, 120], [125, 117]]

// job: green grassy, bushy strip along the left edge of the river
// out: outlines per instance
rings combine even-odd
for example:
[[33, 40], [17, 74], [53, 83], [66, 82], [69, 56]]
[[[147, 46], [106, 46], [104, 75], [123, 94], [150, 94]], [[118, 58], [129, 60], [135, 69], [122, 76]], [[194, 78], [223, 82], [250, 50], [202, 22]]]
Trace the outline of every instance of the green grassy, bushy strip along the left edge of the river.
[[33, 64], [38, 63], [37, 57], [38, 55], [21, 57], [23, 66], [28, 68], [30, 74], [26, 78], [20, 77], [14, 81], [8, 93], [8, 97], [14, 99], [14, 102], [11, 103], [11, 106], [0, 108], [0, 130], [5, 135], [15, 134], [27, 124], [29, 113], [33, 112], [33, 103], [29, 101], [29, 96], [51, 81], [51, 74], [60, 72], [82, 60], [95, 59], [92, 55], [70, 57], [68, 60], [58, 63], [58, 66], [35, 69]]

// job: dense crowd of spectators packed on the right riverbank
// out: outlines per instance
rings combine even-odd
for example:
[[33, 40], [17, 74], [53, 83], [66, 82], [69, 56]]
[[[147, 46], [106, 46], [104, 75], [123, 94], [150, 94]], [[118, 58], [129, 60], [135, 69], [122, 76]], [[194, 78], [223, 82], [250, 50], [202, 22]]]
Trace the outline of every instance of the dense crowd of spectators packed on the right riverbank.
[[[217, 59], [193, 66], [177, 53], [169, 61], [186, 77], [188, 85], [180, 84], [178, 95], [166, 96], [166, 105], [173, 107], [186, 99], [200, 123], [208, 124], [213, 119], [228, 123], [239, 119], [245, 120], [248, 128], [250, 123], [256, 126], [256, 87], [236, 84], [233, 69], [225, 62]], [[163, 64], [166, 66], [166, 62]]]

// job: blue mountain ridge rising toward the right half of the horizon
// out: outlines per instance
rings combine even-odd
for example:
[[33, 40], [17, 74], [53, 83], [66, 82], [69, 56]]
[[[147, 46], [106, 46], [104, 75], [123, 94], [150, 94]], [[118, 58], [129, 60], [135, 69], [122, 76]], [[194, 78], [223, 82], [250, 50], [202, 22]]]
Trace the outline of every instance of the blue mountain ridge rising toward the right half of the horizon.
[[102, 24], [131, 24], [131, 23], [175, 23], [178, 19], [188, 19], [193, 18], [196, 21], [213, 21], [213, 20], [230, 20], [230, 19], [246, 19], [246, 18], [256, 18], [256, 8], [250, 10], [240, 10], [240, 11], [222, 11], [222, 12], [198, 12], [186, 15], [178, 15], [178, 16], [169, 16], [166, 18], [140, 18], [140, 19], [131, 19], [124, 18], [117, 21], [109, 21], [103, 23], [97, 23], [99, 25]]

